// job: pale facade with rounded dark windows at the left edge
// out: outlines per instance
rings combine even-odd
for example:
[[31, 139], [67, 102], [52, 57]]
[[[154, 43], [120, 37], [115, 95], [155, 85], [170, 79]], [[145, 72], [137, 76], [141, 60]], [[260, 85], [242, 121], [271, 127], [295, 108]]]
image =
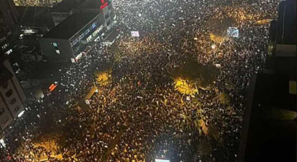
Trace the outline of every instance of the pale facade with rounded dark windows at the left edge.
[[6, 59], [0, 58], [0, 128], [5, 129], [24, 111], [25, 94]]

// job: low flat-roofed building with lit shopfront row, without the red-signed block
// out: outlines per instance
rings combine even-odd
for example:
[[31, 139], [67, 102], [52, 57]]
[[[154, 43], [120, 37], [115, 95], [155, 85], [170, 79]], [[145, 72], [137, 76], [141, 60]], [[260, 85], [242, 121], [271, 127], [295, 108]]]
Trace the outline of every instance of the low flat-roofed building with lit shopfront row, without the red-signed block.
[[73, 61], [105, 30], [100, 14], [75, 13], [38, 41], [49, 61]]

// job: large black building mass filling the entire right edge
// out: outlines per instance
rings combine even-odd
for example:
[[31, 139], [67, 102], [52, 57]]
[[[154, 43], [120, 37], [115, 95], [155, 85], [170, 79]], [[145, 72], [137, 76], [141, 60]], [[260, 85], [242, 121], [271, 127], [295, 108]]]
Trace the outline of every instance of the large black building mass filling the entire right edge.
[[296, 161], [296, 1], [271, 21], [265, 71], [250, 82], [237, 161]]

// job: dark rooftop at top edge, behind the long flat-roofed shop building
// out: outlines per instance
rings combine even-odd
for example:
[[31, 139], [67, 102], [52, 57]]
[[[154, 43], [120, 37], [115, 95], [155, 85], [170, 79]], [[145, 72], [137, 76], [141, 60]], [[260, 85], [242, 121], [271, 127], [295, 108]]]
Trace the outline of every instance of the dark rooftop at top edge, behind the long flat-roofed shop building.
[[87, 0], [63, 0], [51, 8], [51, 12], [70, 12], [72, 8], [76, 8]]

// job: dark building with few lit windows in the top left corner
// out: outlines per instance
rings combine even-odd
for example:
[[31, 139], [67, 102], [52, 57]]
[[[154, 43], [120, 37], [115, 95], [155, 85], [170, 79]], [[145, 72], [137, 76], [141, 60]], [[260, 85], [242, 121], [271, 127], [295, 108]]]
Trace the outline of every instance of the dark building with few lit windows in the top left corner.
[[0, 53], [12, 52], [9, 39], [17, 26], [18, 12], [13, 0], [0, 1]]

